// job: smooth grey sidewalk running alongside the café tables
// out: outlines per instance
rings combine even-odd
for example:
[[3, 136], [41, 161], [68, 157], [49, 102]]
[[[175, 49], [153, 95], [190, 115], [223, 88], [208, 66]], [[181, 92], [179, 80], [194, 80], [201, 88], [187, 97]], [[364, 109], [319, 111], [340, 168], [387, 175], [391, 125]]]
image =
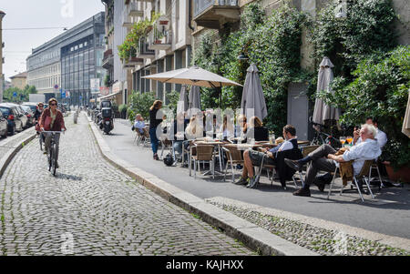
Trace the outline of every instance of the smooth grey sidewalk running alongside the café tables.
[[[294, 197], [292, 196], [294, 187], [291, 182], [288, 183], [289, 190], [284, 191], [278, 182], [271, 186], [270, 182], [263, 178], [261, 186], [249, 189], [231, 184], [231, 177], [227, 178], [227, 182], [223, 182], [221, 177], [216, 177], [215, 180], [202, 176], [194, 179], [189, 176], [188, 168], [166, 167], [163, 162], [152, 160], [149, 147], [136, 147], [133, 144], [134, 135], [127, 120], [117, 119], [112, 133], [110, 136], [104, 135], [104, 139], [118, 157], [197, 197], [231, 198], [354, 228], [410, 238], [408, 229], [410, 186], [408, 185], [405, 188], [385, 188], [382, 193], [376, 194], [376, 199], [373, 201], [370, 196], [365, 195], [364, 203], [361, 202], [357, 192], [347, 192], [342, 197], [334, 193], [332, 199], [327, 200], [327, 191], [321, 193], [317, 188], [313, 188], [312, 198]], [[337, 190], [336, 188], [335, 191]]]

